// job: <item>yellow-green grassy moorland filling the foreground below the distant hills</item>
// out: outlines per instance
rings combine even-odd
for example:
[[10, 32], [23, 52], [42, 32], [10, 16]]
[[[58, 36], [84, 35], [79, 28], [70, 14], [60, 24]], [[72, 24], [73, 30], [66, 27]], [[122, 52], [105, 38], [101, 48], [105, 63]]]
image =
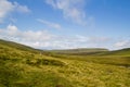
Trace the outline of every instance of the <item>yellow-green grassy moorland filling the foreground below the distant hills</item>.
[[116, 57], [44, 55], [0, 42], [0, 87], [130, 87], [130, 69]]

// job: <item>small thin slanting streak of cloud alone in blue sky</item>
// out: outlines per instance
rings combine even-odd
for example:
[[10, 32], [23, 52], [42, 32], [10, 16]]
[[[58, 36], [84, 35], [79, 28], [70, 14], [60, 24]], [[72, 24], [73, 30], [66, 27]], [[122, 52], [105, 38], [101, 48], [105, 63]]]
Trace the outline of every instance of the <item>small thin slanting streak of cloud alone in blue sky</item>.
[[62, 28], [61, 25], [57, 24], [57, 23], [52, 23], [52, 22], [48, 22], [48, 21], [44, 21], [44, 20], [40, 20], [40, 18], [38, 18], [37, 21], [47, 25], [47, 26], [49, 26], [49, 27], [51, 27], [51, 28], [55, 28], [55, 29], [61, 29]]

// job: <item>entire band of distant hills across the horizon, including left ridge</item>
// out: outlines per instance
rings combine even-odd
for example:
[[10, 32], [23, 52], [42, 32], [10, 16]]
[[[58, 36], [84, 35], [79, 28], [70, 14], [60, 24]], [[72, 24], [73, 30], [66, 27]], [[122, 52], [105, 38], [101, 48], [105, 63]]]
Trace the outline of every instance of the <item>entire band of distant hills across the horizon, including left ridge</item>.
[[51, 53], [62, 53], [62, 54], [78, 54], [78, 55], [130, 55], [130, 48], [125, 48], [120, 50], [114, 50], [109, 51], [108, 49], [105, 48], [79, 48], [79, 49], [65, 49], [65, 50], [40, 50], [40, 49], [35, 49], [29, 46], [25, 46], [22, 44], [13, 42], [13, 41], [8, 41], [0, 39], [0, 45], [17, 49], [17, 50], [23, 50], [23, 51], [30, 51], [30, 52], [42, 52], [44, 54], [50, 54]]

